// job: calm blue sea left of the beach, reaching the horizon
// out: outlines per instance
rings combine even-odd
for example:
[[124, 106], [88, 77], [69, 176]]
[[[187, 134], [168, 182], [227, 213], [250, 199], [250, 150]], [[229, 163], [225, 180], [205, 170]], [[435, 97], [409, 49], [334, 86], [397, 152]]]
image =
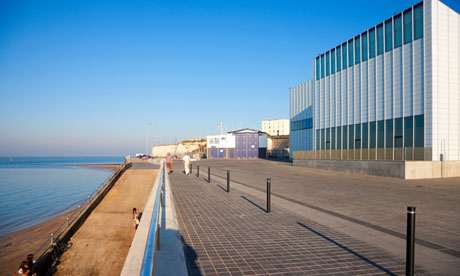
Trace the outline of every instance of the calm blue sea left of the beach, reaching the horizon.
[[0, 235], [75, 208], [113, 174], [66, 165], [121, 163], [123, 157], [0, 157]]

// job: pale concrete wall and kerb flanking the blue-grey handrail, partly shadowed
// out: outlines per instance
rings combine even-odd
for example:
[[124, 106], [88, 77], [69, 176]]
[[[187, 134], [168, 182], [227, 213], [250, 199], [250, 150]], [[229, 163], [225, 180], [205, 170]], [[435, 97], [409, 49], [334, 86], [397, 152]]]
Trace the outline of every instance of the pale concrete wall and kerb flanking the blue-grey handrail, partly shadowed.
[[[161, 163], [161, 161], [158, 163]], [[142, 219], [134, 235], [128, 256], [125, 259], [120, 274], [122, 276], [141, 274], [147, 237], [152, 222], [156, 191], [158, 190], [158, 185], [160, 185], [160, 174], [162, 173], [163, 166], [164, 163], [161, 163], [158, 175], [155, 178], [154, 185], [145, 205]], [[165, 207], [161, 208], [160, 250], [156, 254], [155, 275], [188, 275], [169, 176], [167, 174], [165, 178]]]

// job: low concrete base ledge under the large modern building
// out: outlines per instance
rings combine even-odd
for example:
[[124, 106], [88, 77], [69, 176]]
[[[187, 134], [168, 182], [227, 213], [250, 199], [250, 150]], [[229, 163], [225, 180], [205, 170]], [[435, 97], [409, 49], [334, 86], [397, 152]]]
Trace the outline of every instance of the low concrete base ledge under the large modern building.
[[460, 177], [460, 161], [294, 159], [293, 165], [401, 179]]

